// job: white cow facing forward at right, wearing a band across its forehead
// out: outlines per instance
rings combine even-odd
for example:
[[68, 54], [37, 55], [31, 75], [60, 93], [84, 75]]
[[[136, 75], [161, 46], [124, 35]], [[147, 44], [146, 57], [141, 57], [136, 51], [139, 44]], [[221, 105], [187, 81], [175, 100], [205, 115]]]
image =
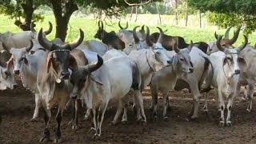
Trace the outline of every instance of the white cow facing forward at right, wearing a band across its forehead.
[[[206, 86], [213, 86], [218, 91], [218, 107], [221, 111], [221, 120], [219, 122], [220, 126], [232, 126], [230, 117], [231, 109], [233, 108], [234, 98], [237, 93], [237, 86], [239, 75], [241, 73], [240, 67], [246, 66], [246, 61], [244, 58], [239, 56], [239, 53], [246, 47], [248, 39], [245, 37], [245, 42], [242, 46], [234, 48], [233, 46], [226, 47], [222, 46], [221, 39], [222, 35], [218, 36], [216, 45], [219, 51], [210, 54], [210, 61], [213, 63], [214, 71], [213, 75], [206, 75]], [[230, 49], [231, 48], [231, 49]], [[209, 81], [208, 79], [212, 80]], [[207, 92], [206, 96], [209, 94]], [[228, 104], [225, 106], [223, 97], [228, 98]], [[224, 119], [224, 110], [227, 110], [226, 120]]]

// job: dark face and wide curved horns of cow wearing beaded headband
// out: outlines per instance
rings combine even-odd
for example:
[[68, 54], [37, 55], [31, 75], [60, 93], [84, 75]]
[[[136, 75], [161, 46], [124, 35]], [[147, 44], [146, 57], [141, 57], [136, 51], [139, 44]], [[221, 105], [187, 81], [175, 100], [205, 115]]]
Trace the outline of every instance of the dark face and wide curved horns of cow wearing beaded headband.
[[82, 43], [83, 38], [83, 31], [80, 30], [80, 35], [77, 40], [59, 46], [53, 42], [49, 42], [46, 38], [43, 38], [42, 29], [39, 31], [39, 44], [46, 50], [50, 50], [47, 56], [47, 72], [53, 70], [56, 82], [60, 83], [62, 80], [70, 78], [69, 68], [75, 69], [78, 67], [75, 58], [70, 55], [70, 50], [74, 50], [74, 48], [79, 46]]

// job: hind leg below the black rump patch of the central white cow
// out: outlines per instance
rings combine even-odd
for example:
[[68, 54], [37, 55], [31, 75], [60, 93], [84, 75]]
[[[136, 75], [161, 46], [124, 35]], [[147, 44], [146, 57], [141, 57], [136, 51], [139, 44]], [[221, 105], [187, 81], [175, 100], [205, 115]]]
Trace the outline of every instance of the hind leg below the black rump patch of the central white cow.
[[140, 120], [142, 122], [146, 122], [146, 114], [145, 114], [144, 106], [143, 106], [142, 93], [140, 90], [134, 90], [134, 95], [135, 95], [135, 98], [137, 99], [136, 101], [138, 102], [138, 107], [139, 107], [139, 110], [137, 113], [139, 113], [139, 115], [142, 116], [142, 118], [138, 119], [138, 120]]

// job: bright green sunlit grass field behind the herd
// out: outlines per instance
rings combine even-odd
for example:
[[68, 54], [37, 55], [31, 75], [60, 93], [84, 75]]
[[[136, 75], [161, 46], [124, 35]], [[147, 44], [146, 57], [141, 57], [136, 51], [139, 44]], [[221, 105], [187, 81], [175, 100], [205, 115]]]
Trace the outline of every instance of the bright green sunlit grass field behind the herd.
[[[154, 31], [158, 31], [156, 26], [162, 27], [162, 30], [168, 30], [166, 31], [166, 34], [169, 35], [178, 35], [182, 36], [185, 38], [186, 42], [190, 42], [190, 40], [193, 40], [194, 42], [198, 41], [203, 41], [203, 42], [213, 42], [215, 41], [214, 38], [214, 32], [217, 31], [217, 34], [224, 34], [225, 30], [218, 30], [216, 26], [206, 26], [202, 29], [196, 27], [196, 26], [189, 26], [189, 27], [182, 27], [182, 26], [171, 26], [168, 24], [168, 22], [163, 22], [163, 25], [157, 25], [155, 22], [152, 22], [153, 19], [151, 20], [151, 17], [148, 17], [146, 15], [140, 15], [138, 18], [144, 18], [142, 21], [139, 22], [129, 22], [129, 29], [132, 30], [134, 26], [142, 26], [142, 25], [147, 25], [150, 27], [150, 33], [153, 33]], [[169, 18], [170, 19], [170, 18]], [[3, 33], [7, 30], [11, 32], [19, 32], [21, 31], [17, 26], [14, 25], [14, 20], [9, 19], [8, 17], [4, 15], [0, 15], [0, 32]], [[52, 22], [54, 25], [54, 30], [53, 32], [47, 36], [49, 39], [54, 38], [55, 34], [55, 20], [54, 20], [54, 15], [45, 15], [45, 20], [43, 22], [38, 22], [37, 26], [35, 27], [36, 30], [39, 30], [41, 27], [43, 30], [48, 29], [48, 21]], [[151, 21], [151, 22], [150, 22]], [[170, 20], [169, 20], [170, 21]], [[191, 20], [190, 20], [191, 21]], [[193, 19], [194, 21], [194, 19]], [[125, 19], [122, 19], [122, 26], [125, 26]], [[108, 22], [109, 24], [111, 22]], [[118, 31], [118, 21], [113, 20], [112, 21], [112, 26], [106, 26], [106, 31], [114, 30]], [[70, 25], [69, 25], [69, 30], [68, 34], [66, 36], [66, 41], [70, 42], [77, 38], [78, 36], [78, 29], [81, 28], [85, 32], [85, 40], [90, 40], [94, 39], [94, 34], [98, 30], [98, 24], [96, 22], [96, 19], [86, 17], [86, 18], [81, 18], [81, 17], [74, 17], [72, 16], [70, 18]], [[233, 32], [230, 30], [230, 36], [232, 36]], [[235, 43], [235, 46], [241, 45], [243, 42], [243, 36], [240, 33], [238, 41]], [[256, 42], [256, 34], [250, 34], [249, 35], [249, 42], [254, 45]]]

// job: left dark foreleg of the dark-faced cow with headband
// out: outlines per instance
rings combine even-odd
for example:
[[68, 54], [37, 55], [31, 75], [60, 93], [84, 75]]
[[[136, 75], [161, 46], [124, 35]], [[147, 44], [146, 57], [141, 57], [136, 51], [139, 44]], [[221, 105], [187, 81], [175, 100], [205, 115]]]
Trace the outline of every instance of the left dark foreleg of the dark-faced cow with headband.
[[42, 138], [40, 139], [40, 142], [46, 142], [46, 141], [49, 141], [50, 140], [50, 130], [49, 130], [49, 122], [50, 122], [50, 110], [48, 110], [46, 108], [46, 104], [43, 105], [43, 108], [44, 108], [44, 120], [45, 120], [45, 124], [46, 124], [46, 127], [45, 127], [45, 130], [44, 130], [44, 133], [43, 133], [43, 136]]

